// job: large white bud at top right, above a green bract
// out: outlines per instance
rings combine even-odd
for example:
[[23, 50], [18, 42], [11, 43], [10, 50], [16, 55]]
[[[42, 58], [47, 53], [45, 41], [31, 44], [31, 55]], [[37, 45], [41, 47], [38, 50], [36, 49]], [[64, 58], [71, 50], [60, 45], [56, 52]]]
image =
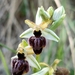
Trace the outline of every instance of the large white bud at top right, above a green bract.
[[61, 6], [54, 11], [53, 20], [58, 20], [63, 14], [65, 14], [64, 7]]

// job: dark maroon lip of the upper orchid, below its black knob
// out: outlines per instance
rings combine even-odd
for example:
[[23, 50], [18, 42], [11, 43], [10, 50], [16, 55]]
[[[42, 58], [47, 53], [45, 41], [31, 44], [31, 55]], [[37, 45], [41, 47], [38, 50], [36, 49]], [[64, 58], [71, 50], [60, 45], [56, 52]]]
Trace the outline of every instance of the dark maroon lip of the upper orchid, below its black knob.
[[30, 46], [32, 46], [35, 54], [40, 54], [42, 52], [43, 47], [45, 47], [46, 45], [46, 39], [43, 36], [31, 36], [29, 38], [29, 44]]

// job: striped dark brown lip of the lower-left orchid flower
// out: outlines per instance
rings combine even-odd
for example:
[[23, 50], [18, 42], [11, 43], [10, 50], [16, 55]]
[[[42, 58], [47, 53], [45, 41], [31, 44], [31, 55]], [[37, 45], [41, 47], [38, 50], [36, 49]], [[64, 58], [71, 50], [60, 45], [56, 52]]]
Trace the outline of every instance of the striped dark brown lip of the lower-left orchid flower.
[[14, 58], [11, 61], [13, 75], [22, 75], [29, 71], [28, 61], [25, 59]]

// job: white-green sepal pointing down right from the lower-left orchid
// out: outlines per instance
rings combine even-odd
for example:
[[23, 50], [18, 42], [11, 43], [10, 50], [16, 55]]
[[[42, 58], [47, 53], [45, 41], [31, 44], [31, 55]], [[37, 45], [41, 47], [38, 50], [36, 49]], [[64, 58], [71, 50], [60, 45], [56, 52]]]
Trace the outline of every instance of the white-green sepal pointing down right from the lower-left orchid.
[[39, 63], [33, 55], [27, 55], [26, 60], [29, 62], [30, 66], [35, 67], [37, 69], [41, 69]]

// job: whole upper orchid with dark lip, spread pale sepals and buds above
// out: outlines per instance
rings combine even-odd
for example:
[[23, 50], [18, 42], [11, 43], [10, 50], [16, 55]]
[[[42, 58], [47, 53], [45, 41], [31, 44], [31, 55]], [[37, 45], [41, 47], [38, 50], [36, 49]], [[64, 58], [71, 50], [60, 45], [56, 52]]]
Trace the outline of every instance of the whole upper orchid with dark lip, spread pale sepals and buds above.
[[[56, 42], [59, 41], [59, 37], [51, 29], [58, 27], [64, 17], [65, 11], [63, 7], [55, 11], [52, 7], [49, 7], [47, 11], [43, 7], [38, 8], [35, 23], [30, 20], [25, 20], [25, 23], [30, 28], [24, 31], [20, 37], [29, 38], [29, 44], [32, 46], [34, 53], [40, 54], [46, 45], [46, 39]], [[47, 28], [49, 24], [51, 24], [51, 29]]]

